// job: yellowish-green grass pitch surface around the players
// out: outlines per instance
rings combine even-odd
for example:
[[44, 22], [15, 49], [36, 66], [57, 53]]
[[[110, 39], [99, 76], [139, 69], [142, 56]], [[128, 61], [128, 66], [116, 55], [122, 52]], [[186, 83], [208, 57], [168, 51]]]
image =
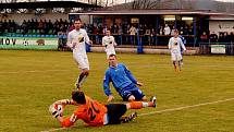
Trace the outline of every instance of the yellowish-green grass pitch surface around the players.
[[[108, 68], [104, 53], [88, 53], [90, 75], [83, 85], [90, 97], [106, 103], [102, 79]], [[185, 56], [175, 73], [170, 56], [119, 55], [158, 108], [136, 110], [138, 117], [120, 125], [57, 130], [48, 107], [70, 98], [79, 73], [72, 52], [0, 50], [0, 132], [233, 132], [234, 57]], [[118, 94], [114, 103], [122, 103]], [[71, 115], [67, 107], [65, 115]], [[127, 115], [135, 110], [127, 111]]]

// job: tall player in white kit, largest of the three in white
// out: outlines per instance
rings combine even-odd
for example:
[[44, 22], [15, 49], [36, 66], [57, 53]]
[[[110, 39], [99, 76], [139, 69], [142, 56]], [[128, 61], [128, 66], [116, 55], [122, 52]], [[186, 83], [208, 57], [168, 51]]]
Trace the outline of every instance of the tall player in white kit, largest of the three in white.
[[81, 89], [82, 83], [89, 74], [89, 62], [86, 55], [86, 44], [91, 45], [87, 32], [82, 27], [82, 20], [74, 20], [74, 29], [67, 35], [67, 46], [73, 50], [73, 58], [82, 70], [82, 73], [76, 80], [76, 88]]

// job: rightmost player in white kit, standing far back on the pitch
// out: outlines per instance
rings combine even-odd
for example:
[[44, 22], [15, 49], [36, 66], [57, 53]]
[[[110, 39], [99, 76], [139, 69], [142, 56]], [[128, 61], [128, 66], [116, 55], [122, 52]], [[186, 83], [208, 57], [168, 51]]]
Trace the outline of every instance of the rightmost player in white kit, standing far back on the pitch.
[[[173, 61], [173, 65], [174, 65], [174, 70], [180, 70], [181, 71], [181, 67], [182, 67], [182, 55], [181, 55], [181, 48], [184, 49], [184, 51], [186, 50], [182, 39], [178, 37], [178, 31], [175, 29], [174, 31], [174, 36], [170, 38], [169, 40], [169, 49], [171, 50], [171, 59]], [[176, 62], [178, 65], [178, 69], [176, 67]]]

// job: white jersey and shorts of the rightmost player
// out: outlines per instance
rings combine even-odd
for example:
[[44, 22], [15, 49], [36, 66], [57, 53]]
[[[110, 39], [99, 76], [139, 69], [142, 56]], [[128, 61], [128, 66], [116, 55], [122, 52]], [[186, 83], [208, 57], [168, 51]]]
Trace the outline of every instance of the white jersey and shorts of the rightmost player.
[[180, 37], [171, 37], [169, 40], [169, 49], [171, 50], [172, 60], [181, 60], [181, 47], [186, 50], [182, 39]]

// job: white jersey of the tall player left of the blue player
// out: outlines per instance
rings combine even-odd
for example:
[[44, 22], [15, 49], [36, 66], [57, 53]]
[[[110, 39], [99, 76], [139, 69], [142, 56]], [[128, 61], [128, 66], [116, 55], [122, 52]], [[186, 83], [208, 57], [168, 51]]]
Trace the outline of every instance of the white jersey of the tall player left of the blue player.
[[69, 33], [66, 45], [73, 49], [74, 53], [86, 56], [85, 43], [89, 43], [89, 37], [85, 29], [73, 29]]

